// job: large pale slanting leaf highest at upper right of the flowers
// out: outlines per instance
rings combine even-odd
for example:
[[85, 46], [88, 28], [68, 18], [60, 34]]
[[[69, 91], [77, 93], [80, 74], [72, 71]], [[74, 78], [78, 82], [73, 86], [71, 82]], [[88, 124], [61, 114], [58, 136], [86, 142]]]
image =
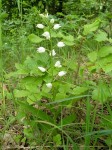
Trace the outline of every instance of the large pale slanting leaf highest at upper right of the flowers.
[[96, 31], [98, 29], [98, 27], [99, 27], [99, 24], [100, 24], [100, 20], [96, 20], [92, 24], [85, 25], [83, 34], [87, 35], [87, 34], [90, 34], [93, 31]]

